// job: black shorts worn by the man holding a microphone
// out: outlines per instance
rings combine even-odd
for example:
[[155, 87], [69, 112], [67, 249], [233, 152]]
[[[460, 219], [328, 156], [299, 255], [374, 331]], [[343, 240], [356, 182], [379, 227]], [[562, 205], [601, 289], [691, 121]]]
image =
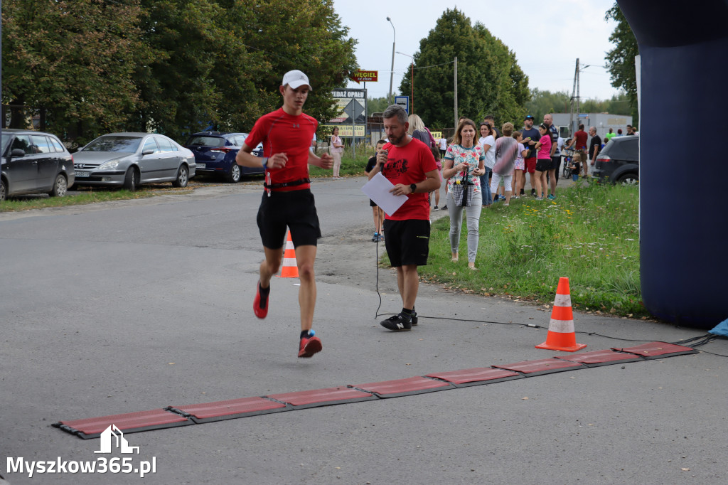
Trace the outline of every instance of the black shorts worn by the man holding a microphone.
[[427, 264], [430, 254], [430, 221], [384, 219], [384, 245], [393, 267]]

